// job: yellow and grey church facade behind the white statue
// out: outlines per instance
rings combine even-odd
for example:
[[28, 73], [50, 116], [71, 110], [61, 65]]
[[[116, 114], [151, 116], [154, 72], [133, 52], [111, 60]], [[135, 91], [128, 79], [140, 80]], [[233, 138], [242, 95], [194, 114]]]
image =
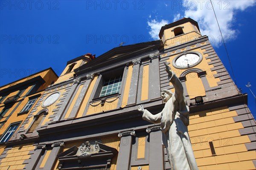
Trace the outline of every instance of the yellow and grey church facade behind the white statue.
[[[160, 92], [174, 91], [165, 62], [183, 85], [198, 168], [255, 169], [256, 122], [247, 94], [240, 93], [198, 23], [183, 18], [163, 26], [159, 37], [68, 61], [59, 77], [44, 80], [45, 90], [35, 90], [40, 95], [26, 113], [16, 111], [9, 119], [4, 108], [15, 94], [2, 86], [0, 169], [169, 170], [159, 124], [137, 111], [143, 105], [161, 112]], [[34, 99], [28, 94], [26, 102]]]

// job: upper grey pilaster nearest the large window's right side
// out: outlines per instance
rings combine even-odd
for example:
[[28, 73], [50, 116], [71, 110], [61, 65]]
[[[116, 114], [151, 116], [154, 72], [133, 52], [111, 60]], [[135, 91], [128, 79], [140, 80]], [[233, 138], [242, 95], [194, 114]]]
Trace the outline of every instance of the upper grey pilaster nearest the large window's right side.
[[140, 58], [133, 59], [133, 69], [132, 69], [132, 77], [131, 77], [131, 85], [128, 96], [128, 105], [135, 104], [137, 99], [137, 89], [138, 89], [138, 80], [140, 73]]

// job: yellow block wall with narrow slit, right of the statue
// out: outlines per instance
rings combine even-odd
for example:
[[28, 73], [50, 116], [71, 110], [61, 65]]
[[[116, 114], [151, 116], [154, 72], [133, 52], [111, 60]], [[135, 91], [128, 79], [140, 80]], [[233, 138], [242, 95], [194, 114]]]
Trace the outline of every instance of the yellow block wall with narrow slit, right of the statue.
[[[227, 107], [190, 113], [188, 130], [199, 169], [255, 168], [252, 160], [256, 159], [256, 151], [247, 151], [245, 143], [250, 139], [247, 135], [240, 136], [243, 125], [234, 122], [233, 116], [237, 116], [236, 111]], [[211, 141], [216, 156], [212, 156]]]

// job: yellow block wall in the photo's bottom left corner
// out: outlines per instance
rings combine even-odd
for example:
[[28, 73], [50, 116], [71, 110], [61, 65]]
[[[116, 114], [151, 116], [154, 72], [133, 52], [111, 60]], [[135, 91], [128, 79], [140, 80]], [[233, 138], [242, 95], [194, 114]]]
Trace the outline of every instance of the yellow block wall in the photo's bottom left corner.
[[34, 150], [35, 146], [32, 143], [13, 146], [11, 150], [8, 150], [6, 158], [0, 161], [1, 170], [19, 170], [23, 169], [26, 164], [23, 164], [25, 160], [28, 160], [31, 155], [28, 155], [29, 151]]

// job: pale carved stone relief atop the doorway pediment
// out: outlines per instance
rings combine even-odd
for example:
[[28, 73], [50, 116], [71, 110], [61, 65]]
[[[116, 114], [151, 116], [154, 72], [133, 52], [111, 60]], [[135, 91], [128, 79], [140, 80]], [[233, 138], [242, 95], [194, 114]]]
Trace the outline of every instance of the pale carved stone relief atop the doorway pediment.
[[77, 156], [91, 156], [93, 153], [99, 153], [99, 143], [95, 141], [94, 144], [90, 144], [89, 141], [82, 143], [76, 153]]

